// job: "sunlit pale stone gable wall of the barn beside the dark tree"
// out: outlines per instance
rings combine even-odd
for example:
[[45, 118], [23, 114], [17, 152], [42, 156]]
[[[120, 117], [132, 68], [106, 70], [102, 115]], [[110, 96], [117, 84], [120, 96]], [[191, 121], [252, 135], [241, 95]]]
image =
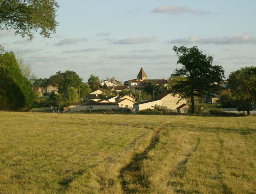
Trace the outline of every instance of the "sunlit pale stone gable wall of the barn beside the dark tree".
[[177, 104], [179, 100], [180, 99], [178, 94], [176, 94], [175, 96], [172, 96], [172, 94], [167, 94], [161, 99], [161, 106], [175, 110], [180, 105], [187, 103], [186, 99], [181, 99], [180, 102]]

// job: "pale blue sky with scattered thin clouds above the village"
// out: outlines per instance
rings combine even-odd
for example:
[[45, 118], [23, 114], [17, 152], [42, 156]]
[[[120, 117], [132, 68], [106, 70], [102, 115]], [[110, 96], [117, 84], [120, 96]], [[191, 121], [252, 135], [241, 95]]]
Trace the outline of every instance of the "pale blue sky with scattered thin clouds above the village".
[[168, 78], [177, 67], [176, 46], [198, 46], [222, 65], [226, 76], [256, 65], [255, 0], [57, 0], [56, 34], [28, 42], [0, 32], [5, 50], [23, 55], [38, 78], [76, 71], [120, 81]]

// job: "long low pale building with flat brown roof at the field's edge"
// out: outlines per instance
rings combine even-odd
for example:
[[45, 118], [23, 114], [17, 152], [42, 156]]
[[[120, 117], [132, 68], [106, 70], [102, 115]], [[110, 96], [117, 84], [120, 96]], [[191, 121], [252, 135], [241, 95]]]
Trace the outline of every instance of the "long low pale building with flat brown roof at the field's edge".
[[81, 103], [69, 103], [69, 106], [64, 107], [65, 112], [78, 112], [87, 110], [113, 110], [119, 109], [118, 103], [112, 102], [81, 102]]

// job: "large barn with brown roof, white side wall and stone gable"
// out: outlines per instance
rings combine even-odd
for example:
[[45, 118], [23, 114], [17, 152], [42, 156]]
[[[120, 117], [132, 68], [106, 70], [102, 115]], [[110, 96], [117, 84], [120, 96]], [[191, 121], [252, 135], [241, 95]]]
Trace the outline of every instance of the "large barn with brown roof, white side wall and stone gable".
[[148, 108], [153, 109], [155, 105], [158, 105], [171, 111], [175, 110], [177, 107], [184, 103], [187, 104], [187, 100], [180, 99], [180, 95], [176, 94], [173, 96], [170, 91], [164, 91], [156, 96], [155, 99], [133, 104], [133, 108], [135, 111], [140, 111]]

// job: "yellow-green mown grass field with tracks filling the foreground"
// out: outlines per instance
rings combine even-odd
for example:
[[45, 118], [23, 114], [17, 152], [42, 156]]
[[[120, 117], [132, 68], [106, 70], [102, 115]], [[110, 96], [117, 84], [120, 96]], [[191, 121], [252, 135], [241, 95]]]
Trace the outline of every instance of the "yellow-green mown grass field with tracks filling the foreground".
[[0, 193], [256, 193], [256, 116], [0, 112]]

